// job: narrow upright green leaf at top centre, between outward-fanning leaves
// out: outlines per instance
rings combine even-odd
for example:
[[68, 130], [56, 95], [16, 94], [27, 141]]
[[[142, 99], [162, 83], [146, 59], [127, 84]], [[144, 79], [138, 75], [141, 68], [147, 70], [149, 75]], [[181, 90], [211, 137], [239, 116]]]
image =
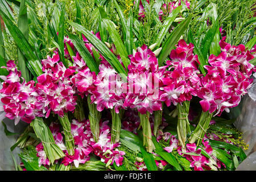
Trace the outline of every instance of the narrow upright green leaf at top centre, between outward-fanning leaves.
[[127, 19], [126, 50], [129, 55], [133, 54], [133, 10], [130, 9]]

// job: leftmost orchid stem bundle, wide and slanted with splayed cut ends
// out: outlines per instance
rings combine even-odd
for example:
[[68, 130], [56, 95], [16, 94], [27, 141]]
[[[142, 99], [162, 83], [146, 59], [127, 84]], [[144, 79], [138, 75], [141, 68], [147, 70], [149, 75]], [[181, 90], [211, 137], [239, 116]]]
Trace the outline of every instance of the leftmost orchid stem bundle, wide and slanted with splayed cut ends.
[[51, 164], [53, 164], [55, 160], [63, 158], [65, 156], [60, 147], [55, 144], [52, 133], [46, 126], [46, 124], [44, 124], [42, 118], [35, 118], [34, 121], [30, 123], [30, 125], [34, 129], [36, 137], [38, 137], [42, 141], [44, 151], [46, 152], [46, 155]]

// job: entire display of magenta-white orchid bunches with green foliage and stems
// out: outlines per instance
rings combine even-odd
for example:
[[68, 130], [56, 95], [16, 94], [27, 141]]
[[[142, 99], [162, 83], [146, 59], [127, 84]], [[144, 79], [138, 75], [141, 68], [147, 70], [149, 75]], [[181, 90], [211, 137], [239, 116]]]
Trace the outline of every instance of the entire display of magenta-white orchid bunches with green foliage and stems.
[[15, 169], [235, 170], [249, 147], [231, 115], [254, 85], [254, 15], [252, 0], [1, 1]]

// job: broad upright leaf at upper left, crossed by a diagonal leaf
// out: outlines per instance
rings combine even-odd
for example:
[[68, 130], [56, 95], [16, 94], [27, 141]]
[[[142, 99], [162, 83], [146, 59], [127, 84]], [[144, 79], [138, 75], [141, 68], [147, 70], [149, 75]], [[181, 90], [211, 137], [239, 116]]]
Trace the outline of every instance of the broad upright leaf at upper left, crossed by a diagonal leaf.
[[[19, 16], [18, 16], [18, 28], [28, 40], [28, 19], [27, 19], [27, 6], [25, 5], [26, 0], [20, 2]], [[22, 77], [28, 82], [30, 81], [30, 73], [26, 67], [26, 60], [22, 55], [22, 52], [18, 50], [18, 68], [22, 73]]]

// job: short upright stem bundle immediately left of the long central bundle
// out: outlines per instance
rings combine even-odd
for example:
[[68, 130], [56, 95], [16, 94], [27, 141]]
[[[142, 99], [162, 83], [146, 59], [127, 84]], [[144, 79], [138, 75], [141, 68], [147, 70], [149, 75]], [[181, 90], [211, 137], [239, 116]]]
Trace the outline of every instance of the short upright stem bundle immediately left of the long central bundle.
[[121, 133], [121, 118], [120, 114], [115, 113], [114, 109], [110, 109], [112, 115], [111, 142], [117, 143]]

